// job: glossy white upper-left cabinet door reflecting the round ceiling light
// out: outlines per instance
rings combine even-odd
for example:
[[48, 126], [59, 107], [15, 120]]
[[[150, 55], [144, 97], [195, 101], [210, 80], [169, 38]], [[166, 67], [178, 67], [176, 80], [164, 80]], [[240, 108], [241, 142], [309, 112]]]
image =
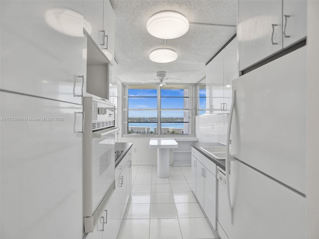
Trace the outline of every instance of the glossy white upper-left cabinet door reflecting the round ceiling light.
[[81, 94], [86, 76], [83, 2], [0, 4], [0, 88], [81, 104], [74, 94]]

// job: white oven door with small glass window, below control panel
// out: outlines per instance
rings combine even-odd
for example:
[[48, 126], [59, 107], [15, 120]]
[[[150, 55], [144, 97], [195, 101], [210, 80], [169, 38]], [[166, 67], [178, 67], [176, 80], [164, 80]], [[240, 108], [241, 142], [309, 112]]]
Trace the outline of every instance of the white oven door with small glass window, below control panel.
[[[102, 130], [101, 130], [102, 131]], [[92, 209], [101, 203], [115, 177], [115, 133], [92, 138]]]

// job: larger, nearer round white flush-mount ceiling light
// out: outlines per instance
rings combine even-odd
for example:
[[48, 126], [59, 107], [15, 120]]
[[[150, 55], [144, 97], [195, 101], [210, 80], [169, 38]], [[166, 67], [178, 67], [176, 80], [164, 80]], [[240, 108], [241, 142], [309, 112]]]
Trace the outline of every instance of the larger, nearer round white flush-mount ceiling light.
[[174, 39], [184, 35], [189, 28], [187, 18], [176, 11], [160, 11], [148, 20], [148, 32], [161, 39]]

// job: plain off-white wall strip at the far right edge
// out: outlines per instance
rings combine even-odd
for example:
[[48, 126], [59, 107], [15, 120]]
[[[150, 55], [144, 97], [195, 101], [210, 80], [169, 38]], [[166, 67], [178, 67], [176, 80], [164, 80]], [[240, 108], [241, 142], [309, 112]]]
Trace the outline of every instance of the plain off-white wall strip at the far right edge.
[[319, 237], [319, 1], [309, 0], [307, 25], [307, 239]]

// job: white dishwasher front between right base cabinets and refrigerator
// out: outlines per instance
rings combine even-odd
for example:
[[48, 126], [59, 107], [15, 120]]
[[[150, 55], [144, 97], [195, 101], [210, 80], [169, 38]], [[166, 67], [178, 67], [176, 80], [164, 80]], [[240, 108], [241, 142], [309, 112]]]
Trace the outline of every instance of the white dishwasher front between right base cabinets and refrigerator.
[[231, 230], [231, 212], [227, 198], [225, 171], [217, 166], [217, 232], [221, 239], [228, 239]]

